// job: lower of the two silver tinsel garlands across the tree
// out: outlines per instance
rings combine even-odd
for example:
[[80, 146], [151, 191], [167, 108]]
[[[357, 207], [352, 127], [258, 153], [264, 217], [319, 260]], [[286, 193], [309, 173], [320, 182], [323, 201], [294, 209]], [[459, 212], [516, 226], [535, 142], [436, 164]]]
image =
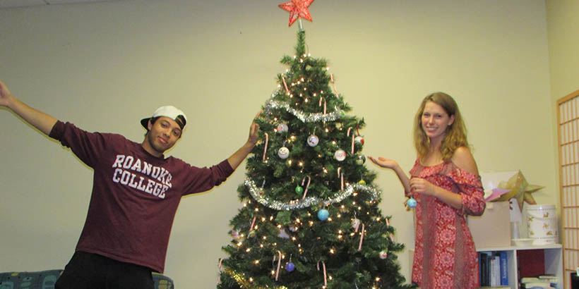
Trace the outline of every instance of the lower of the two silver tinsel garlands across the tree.
[[305, 199], [294, 199], [290, 202], [280, 202], [275, 199], [270, 199], [266, 197], [263, 193], [263, 188], [258, 187], [253, 180], [247, 178], [244, 181], [244, 185], [249, 189], [251, 197], [255, 199], [258, 203], [263, 204], [265, 207], [271, 209], [276, 209], [278, 211], [282, 210], [292, 210], [292, 209], [304, 209], [311, 207], [314, 204], [321, 204], [323, 206], [328, 206], [329, 204], [342, 202], [345, 198], [352, 195], [354, 192], [366, 192], [370, 195], [371, 200], [378, 199], [380, 197], [381, 191], [377, 190], [376, 187], [371, 187], [369, 185], [353, 184], [348, 185], [345, 190], [335, 193], [330, 199], [319, 199], [317, 197], [306, 197]]

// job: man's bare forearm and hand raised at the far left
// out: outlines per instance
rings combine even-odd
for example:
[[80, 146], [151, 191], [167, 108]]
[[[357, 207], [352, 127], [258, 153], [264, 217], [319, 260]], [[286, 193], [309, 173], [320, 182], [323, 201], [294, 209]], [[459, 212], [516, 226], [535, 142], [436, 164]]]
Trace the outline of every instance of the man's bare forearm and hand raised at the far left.
[[48, 115], [47, 113], [43, 113], [42, 111], [37, 111], [36, 109], [32, 109], [32, 107], [26, 105], [23, 102], [20, 102], [16, 97], [14, 97], [8, 87], [4, 85], [0, 81], [0, 106], [4, 106], [18, 116], [23, 118], [27, 123], [34, 126], [38, 130], [40, 130], [45, 135], [49, 135], [52, 127], [56, 123], [57, 119]]

